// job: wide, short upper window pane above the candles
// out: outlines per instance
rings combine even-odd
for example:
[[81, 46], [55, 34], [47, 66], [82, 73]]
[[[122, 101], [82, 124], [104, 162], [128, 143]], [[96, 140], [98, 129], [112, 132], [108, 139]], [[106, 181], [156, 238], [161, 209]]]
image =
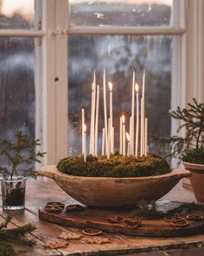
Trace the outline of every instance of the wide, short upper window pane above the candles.
[[168, 26], [173, 0], [70, 0], [70, 26]]

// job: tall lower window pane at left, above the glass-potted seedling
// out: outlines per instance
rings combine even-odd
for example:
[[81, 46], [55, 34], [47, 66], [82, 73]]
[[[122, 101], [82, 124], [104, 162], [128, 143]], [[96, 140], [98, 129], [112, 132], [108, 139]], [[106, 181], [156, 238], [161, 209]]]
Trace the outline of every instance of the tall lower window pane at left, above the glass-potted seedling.
[[0, 62], [0, 138], [35, 138], [35, 39], [1, 38]]

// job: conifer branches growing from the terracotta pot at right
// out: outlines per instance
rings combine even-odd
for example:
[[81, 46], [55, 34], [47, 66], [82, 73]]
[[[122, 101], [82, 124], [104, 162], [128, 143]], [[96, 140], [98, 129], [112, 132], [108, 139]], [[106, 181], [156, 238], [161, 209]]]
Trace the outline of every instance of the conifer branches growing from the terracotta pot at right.
[[[175, 120], [181, 121], [177, 129], [179, 133], [185, 128], [183, 137], [172, 136], [169, 138], [157, 138], [162, 148], [169, 147], [171, 154], [169, 156], [179, 157], [189, 148], [204, 148], [204, 103], [198, 103], [193, 99], [193, 103], [188, 103], [188, 108], [179, 108], [170, 113]], [[196, 151], [194, 150], [194, 152]]]

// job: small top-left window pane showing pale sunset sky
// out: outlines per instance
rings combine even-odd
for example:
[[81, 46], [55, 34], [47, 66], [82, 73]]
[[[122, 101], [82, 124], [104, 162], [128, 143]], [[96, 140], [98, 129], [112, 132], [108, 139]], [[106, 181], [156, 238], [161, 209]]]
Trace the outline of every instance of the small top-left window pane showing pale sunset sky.
[[1, 0], [0, 29], [34, 29], [35, 0]]

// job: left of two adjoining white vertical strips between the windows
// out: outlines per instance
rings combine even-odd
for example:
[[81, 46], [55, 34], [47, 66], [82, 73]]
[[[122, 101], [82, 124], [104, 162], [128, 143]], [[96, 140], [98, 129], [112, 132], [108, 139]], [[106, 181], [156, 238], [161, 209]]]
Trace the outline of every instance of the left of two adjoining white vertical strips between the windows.
[[42, 38], [42, 131], [43, 148], [47, 152], [45, 164], [56, 161], [56, 47], [55, 36], [55, 1], [42, 2], [42, 30], [46, 35]]

